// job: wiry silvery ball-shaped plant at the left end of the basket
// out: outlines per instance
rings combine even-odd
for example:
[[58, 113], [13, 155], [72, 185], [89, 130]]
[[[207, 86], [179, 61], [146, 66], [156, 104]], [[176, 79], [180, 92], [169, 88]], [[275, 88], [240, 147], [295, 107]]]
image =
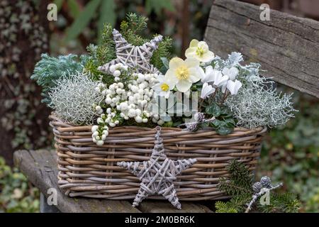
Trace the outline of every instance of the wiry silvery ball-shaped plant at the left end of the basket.
[[50, 107], [62, 120], [76, 125], [91, 124], [98, 116], [94, 104], [100, 104], [103, 95], [95, 88], [99, 82], [79, 72], [72, 77], [62, 77], [50, 92]]

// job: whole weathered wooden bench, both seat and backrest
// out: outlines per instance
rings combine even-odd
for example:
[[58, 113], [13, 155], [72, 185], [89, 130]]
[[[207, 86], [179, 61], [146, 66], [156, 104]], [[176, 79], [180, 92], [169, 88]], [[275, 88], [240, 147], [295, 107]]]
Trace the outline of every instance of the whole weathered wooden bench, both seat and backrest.
[[[216, 0], [211, 8], [205, 40], [220, 57], [242, 52], [246, 62], [260, 62], [266, 76], [301, 92], [319, 97], [319, 22], [270, 11], [261, 21], [258, 6]], [[14, 161], [41, 192], [43, 212], [179, 212], [167, 201], [146, 200], [135, 209], [132, 201], [70, 198], [57, 187], [54, 151], [19, 150]], [[57, 206], [48, 206], [47, 189], [57, 189]], [[213, 201], [182, 202], [182, 212], [211, 212]], [[206, 206], [208, 205], [208, 206]]]

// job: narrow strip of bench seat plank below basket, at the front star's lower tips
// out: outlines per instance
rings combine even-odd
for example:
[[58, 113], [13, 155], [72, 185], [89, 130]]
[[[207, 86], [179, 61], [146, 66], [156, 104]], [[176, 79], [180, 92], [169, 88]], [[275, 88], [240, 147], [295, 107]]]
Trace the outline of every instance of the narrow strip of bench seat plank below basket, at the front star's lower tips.
[[167, 201], [142, 201], [138, 209], [143, 213], [211, 213], [207, 206], [181, 201], [181, 210], [177, 210]]

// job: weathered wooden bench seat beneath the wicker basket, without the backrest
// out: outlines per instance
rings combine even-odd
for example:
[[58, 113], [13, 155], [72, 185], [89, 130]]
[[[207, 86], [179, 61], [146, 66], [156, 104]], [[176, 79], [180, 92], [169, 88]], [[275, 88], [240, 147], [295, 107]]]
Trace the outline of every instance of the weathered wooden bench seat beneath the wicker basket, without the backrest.
[[[107, 199], [84, 199], [65, 196], [57, 186], [57, 155], [55, 150], [18, 150], [13, 160], [28, 180], [40, 189], [41, 212], [185, 212], [206, 213], [212, 212], [208, 206], [201, 203], [181, 202], [182, 209], [175, 209], [167, 201], [142, 201], [138, 209], [132, 206], [132, 201], [117, 201]], [[48, 189], [57, 189], [57, 206], [47, 204]], [[49, 191], [50, 192], [50, 191]], [[209, 202], [213, 206], [213, 202]]]

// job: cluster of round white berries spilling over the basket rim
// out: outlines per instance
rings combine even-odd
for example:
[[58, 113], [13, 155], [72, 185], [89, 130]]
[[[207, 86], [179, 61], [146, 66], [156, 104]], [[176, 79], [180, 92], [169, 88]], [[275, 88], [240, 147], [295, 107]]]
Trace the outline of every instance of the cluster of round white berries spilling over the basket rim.
[[154, 123], [162, 123], [158, 114], [153, 114], [150, 108], [154, 91], [152, 87], [158, 82], [157, 74], [133, 73], [130, 79], [121, 80], [121, 75], [128, 71], [128, 67], [119, 63], [112, 65], [109, 71], [113, 73], [115, 82], [108, 87], [99, 83], [97, 92], [105, 97], [103, 113], [101, 106], [94, 106], [98, 126], [92, 127], [92, 138], [97, 145], [103, 145], [108, 133], [108, 126], [115, 127], [124, 120], [134, 118], [137, 123], [147, 123], [150, 118]]

